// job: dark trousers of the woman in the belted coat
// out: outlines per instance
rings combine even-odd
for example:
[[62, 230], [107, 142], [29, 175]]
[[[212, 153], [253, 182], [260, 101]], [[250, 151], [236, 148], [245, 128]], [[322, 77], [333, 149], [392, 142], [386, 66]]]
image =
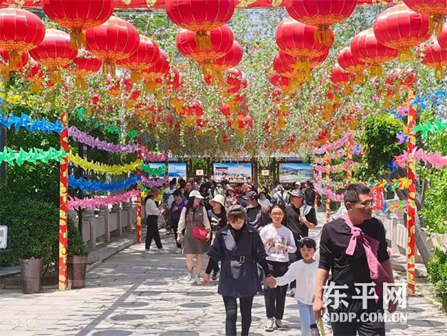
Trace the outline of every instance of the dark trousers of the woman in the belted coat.
[[[236, 297], [223, 296], [223, 304], [225, 304], [225, 335], [237, 336], [236, 320], [237, 320], [237, 300]], [[253, 297], [240, 297], [239, 306], [241, 308], [241, 336], [248, 336], [250, 325], [252, 324], [252, 304]]]

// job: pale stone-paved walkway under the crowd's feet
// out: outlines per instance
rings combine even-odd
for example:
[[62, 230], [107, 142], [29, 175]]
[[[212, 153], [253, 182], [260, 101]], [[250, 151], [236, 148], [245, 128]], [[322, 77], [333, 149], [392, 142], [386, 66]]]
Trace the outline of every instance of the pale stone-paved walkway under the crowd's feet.
[[[173, 235], [162, 234], [162, 239], [168, 250], [175, 249]], [[90, 271], [86, 288], [38, 295], [1, 291], [0, 335], [223, 335], [225, 311], [217, 282], [193, 286], [185, 275], [183, 255], [148, 255], [144, 244], [133, 245]], [[433, 293], [429, 284], [418, 286], [423, 293]], [[401, 310], [408, 313], [408, 322], [386, 324], [386, 335], [447, 335], [447, 315], [433, 302], [430, 296], [411, 297]], [[301, 335], [297, 307], [287, 297], [284, 319], [289, 328], [266, 333], [263, 296], [258, 295], [250, 335]]]

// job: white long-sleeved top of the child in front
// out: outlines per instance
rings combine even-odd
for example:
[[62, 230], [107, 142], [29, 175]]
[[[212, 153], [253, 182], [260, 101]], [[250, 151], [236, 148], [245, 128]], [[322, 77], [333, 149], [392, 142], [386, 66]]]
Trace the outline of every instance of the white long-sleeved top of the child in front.
[[295, 299], [303, 304], [312, 304], [316, 286], [316, 271], [318, 262], [306, 264], [304, 260], [298, 260], [290, 264], [287, 273], [282, 277], [276, 277], [276, 286], [284, 286], [296, 280]]

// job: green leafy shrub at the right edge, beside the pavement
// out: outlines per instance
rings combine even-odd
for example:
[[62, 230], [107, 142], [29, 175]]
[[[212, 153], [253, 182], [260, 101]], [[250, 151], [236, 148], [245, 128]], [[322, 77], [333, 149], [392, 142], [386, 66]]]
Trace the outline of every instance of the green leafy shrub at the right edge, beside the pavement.
[[437, 250], [428, 262], [428, 280], [435, 285], [436, 297], [447, 309], [447, 251]]

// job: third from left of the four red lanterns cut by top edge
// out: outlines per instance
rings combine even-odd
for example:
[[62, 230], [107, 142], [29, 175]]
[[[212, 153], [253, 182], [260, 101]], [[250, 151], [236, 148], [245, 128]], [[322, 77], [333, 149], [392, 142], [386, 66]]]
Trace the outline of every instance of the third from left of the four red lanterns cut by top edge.
[[331, 25], [351, 16], [356, 9], [356, 0], [286, 0], [285, 9], [291, 17], [307, 25], [317, 27], [316, 41], [332, 45]]

